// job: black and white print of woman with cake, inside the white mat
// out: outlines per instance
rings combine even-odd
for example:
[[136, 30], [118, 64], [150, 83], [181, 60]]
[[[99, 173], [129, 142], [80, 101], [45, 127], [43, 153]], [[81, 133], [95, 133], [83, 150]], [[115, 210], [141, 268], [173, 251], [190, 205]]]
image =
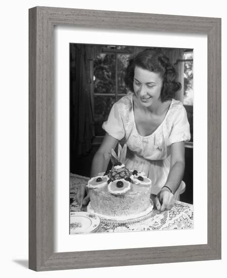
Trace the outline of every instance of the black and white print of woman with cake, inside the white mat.
[[70, 43], [70, 235], [194, 228], [193, 49]]

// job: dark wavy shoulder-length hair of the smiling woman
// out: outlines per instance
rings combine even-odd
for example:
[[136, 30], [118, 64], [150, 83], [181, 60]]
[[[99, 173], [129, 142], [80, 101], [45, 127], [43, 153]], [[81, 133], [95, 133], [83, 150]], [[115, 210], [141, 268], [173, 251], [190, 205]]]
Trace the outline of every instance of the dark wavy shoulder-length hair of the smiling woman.
[[175, 92], [181, 88], [181, 84], [176, 81], [177, 73], [173, 65], [170, 63], [169, 58], [160, 50], [147, 49], [140, 52], [135, 57], [132, 57], [126, 68], [124, 81], [125, 85], [132, 92], [134, 92], [133, 78], [136, 66], [160, 74], [160, 77], [163, 79], [160, 95], [162, 102], [174, 98]]

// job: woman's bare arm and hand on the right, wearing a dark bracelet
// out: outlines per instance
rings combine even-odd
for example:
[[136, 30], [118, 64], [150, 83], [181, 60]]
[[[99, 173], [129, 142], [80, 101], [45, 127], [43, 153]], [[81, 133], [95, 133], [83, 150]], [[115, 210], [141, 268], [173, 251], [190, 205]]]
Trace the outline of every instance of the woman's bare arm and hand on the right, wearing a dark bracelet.
[[173, 194], [178, 189], [185, 171], [185, 142], [172, 144], [170, 146], [170, 154], [170, 170], [165, 183], [166, 187], [155, 198], [156, 208], [160, 212], [171, 209], [174, 205]]

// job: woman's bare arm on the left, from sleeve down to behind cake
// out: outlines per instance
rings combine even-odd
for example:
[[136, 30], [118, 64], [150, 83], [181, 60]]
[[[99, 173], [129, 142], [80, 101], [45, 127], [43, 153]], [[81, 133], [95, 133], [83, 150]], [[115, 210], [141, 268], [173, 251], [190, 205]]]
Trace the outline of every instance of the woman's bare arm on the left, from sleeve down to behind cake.
[[117, 143], [117, 139], [106, 133], [99, 150], [96, 152], [93, 158], [90, 177], [94, 177], [98, 173], [106, 171], [110, 161], [111, 149], [115, 149]]

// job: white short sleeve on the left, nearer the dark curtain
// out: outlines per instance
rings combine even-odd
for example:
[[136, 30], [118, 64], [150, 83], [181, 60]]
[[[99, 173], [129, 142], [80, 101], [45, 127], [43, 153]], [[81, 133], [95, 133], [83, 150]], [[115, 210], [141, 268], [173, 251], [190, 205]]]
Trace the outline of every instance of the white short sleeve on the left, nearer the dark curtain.
[[121, 140], [125, 135], [122, 113], [120, 113], [119, 103], [115, 103], [108, 116], [107, 121], [102, 125], [102, 128], [112, 137]]

